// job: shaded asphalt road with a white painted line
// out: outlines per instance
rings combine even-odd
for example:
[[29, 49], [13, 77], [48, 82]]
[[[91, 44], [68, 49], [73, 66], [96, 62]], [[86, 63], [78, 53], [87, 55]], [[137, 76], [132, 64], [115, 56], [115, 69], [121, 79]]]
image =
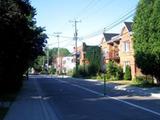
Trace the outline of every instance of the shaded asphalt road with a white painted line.
[[106, 89], [99, 82], [31, 77], [59, 120], [160, 120], [160, 100]]

